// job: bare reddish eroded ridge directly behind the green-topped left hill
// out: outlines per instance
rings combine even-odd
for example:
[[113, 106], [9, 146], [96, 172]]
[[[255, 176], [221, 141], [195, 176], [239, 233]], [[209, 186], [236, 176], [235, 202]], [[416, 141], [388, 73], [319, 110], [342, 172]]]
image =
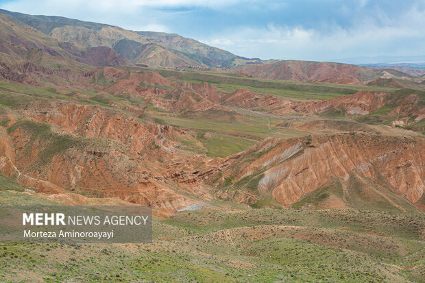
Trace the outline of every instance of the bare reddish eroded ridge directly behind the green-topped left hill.
[[76, 103], [34, 101], [17, 109], [23, 116], [60, 126], [60, 131], [87, 138], [109, 138], [128, 145], [151, 160], [172, 158], [175, 136], [184, 135], [168, 125], [139, 123], [114, 110]]

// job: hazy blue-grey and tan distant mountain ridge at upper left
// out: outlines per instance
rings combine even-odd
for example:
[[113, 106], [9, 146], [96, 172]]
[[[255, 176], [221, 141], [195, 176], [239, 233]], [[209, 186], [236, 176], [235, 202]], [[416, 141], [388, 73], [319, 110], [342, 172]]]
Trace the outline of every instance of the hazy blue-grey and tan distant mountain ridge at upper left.
[[0, 12], [60, 41], [86, 47], [110, 47], [134, 64], [154, 67], [208, 67], [229, 64], [232, 60], [241, 58], [178, 34], [133, 32], [121, 27], [61, 16], [33, 16], [1, 9]]

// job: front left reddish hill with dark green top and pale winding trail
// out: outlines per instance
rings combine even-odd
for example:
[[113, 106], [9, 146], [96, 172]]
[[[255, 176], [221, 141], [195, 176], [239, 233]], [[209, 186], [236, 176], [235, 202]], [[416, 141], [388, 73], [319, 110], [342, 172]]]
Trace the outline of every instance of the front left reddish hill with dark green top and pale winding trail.
[[1, 132], [0, 171], [40, 193], [118, 197], [153, 206], [161, 217], [194, 202], [163, 184], [158, 167], [122, 143], [58, 134], [31, 120], [10, 129]]

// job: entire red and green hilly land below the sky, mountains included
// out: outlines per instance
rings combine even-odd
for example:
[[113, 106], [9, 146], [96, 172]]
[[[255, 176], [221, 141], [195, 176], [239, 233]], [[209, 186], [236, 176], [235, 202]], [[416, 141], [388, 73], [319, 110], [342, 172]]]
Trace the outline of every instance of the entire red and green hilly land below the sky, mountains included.
[[1, 10], [0, 204], [152, 206], [6, 282], [424, 282], [425, 79]]

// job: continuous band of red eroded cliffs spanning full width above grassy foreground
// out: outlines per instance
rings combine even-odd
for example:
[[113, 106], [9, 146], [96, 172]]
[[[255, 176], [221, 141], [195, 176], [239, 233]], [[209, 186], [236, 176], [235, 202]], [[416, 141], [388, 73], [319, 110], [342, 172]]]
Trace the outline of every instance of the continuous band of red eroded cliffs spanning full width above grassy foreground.
[[[352, 175], [379, 184], [412, 204], [424, 194], [422, 138], [361, 132], [266, 138], [241, 153], [206, 160], [204, 156], [182, 158], [173, 152], [175, 136], [184, 132], [141, 124], [112, 110], [38, 101], [16, 111], [27, 118], [6, 114], [9, 122], [8, 131], [3, 127], [0, 135], [0, 170], [42, 193], [77, 190], [117, 197], [154, 206], [162, 217], [195, 203], [178, 190], [203, 199], [256, 201], [256, 195], [243, 188], [233, 195], [217, 188], [229, 179], [234, 184], [254, 179], [250, 186], [254, 184], [258, 192], [271, 195], [283, 206], [328, 186], [335, 178], [348, 191]], [[149, 147], [149, 143], [157, 146]], [[154, 156], [167, 159], [168, 165], [154, 162]], [[347, 207], [341, 199], [328, 201], [332, 208], [335, 204]]]

